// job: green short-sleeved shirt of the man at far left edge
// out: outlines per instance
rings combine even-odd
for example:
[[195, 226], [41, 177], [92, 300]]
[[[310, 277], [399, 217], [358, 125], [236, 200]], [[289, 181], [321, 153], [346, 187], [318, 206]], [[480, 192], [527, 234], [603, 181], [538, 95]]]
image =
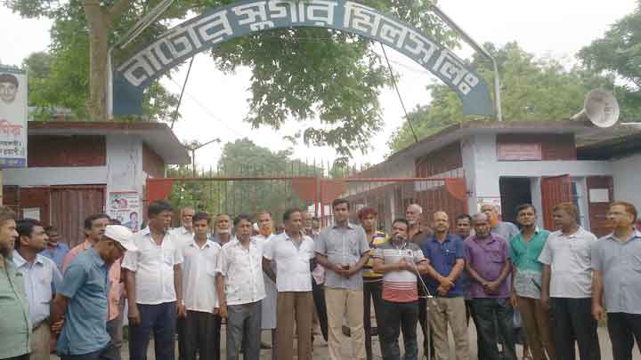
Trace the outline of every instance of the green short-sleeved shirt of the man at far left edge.
[[31, 322], [24, 278], [11, 258], [4, 258], [0, 268], [0, 309], [0, 358], [28, 354]]

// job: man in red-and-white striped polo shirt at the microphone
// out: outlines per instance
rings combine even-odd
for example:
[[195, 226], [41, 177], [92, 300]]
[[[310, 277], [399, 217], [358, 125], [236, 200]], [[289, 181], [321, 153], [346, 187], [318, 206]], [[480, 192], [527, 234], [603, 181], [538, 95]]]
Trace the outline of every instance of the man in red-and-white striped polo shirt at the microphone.
[[398, 337], [402, 329], [405, 359], [418, 358], [418, 287], [417, 273], [425, 273], [427, 260], [417, 244], [408, 242], [410, 224], [405, 219], [392, 223], [391, 240], [374, 252], [374, 271], [383, 276], [385, 321], [378, 336], [383, 344], [383, 359], [400, 358]]

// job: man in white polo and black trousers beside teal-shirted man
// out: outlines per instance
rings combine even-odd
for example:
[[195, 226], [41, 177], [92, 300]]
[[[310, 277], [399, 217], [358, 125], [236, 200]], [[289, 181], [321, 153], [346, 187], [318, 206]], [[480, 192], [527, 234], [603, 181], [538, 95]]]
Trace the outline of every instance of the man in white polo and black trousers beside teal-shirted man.
[[577, 223], [572, 203], [557, 204], [552, 218], [557, 231], [539, 255], [543, 264], [541, 305], [550, 309], [552, 338], [558, 359], [574, 359], [574, 340], [581, 360], [600, 360], [601, 353], [592, 317], [592, 247], [596, 236]]

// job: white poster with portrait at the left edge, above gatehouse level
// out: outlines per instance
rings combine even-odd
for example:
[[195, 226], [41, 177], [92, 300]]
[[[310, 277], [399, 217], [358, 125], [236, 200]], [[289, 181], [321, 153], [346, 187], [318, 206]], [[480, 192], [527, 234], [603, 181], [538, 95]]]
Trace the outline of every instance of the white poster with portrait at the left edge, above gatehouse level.
[[0, 66], [0, 169], [27, 166], [27, 73]]

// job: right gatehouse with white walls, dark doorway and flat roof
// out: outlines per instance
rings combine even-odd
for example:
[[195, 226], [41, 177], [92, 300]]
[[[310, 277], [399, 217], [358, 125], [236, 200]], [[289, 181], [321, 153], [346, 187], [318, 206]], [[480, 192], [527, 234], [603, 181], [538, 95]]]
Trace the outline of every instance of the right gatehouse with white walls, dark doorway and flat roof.
[[357, 205], [378, 206], [390, 219], [412, 202], [423, 205], [426, 217], [436, 210], [474, 213], [480, 204], [491, 203], [504, 220], [514, 221], [515, 207], [531, 203], [540, 210], [545, 228], [552, 228], [555, 204], [573, 201], [580, 223], [604, 235], [607, 204], [627, 200], [641, 208], [639, 130], [570, 120], [456, 124], [356, 176], [405, 178], [403, 183], [380, 183], [394, 191], [369, 185], [347, 195]]

